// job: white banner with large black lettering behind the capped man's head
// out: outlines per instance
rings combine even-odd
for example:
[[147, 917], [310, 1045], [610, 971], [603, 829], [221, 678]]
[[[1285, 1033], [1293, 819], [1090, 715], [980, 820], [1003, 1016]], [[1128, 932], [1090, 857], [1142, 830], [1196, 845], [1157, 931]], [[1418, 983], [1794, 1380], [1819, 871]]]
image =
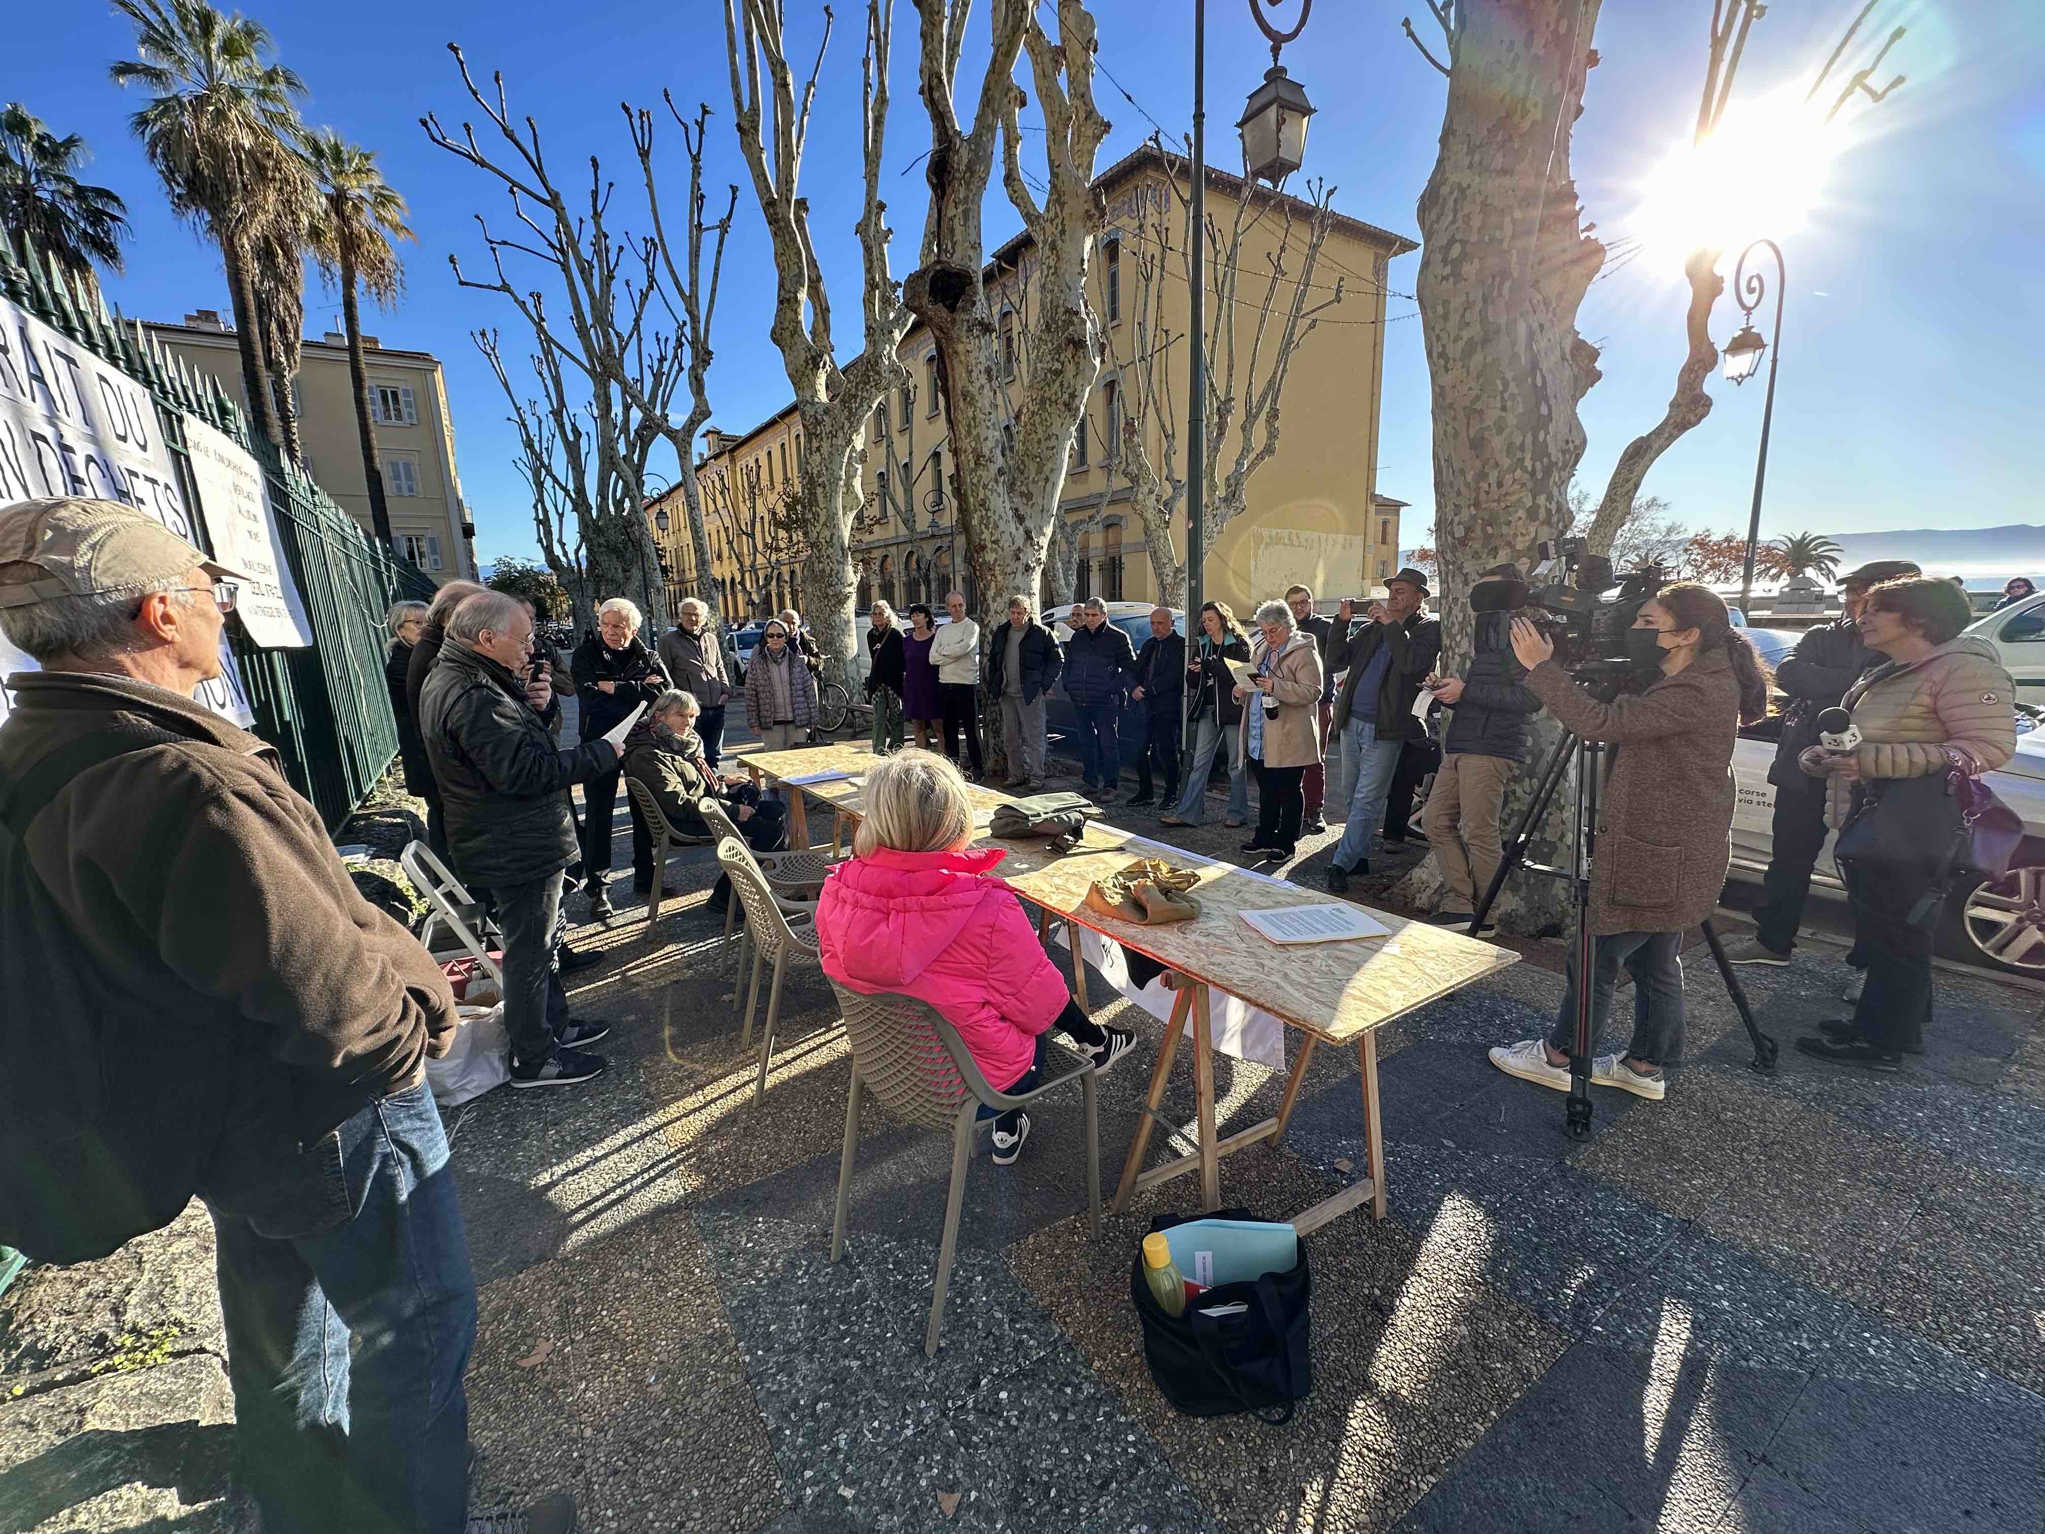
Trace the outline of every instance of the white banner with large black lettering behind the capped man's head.
[[[0, 505], [55, 495], [123, 501], [198, 544], [149, 391], [0, 299]], [[0, 640], [0, 671], [33, 669]], [[256, 722], [225, 632], [221, 675], [200, 683], [198, 702], [243, 728]], [[0, 687], [0, 718], [6, 708]]]

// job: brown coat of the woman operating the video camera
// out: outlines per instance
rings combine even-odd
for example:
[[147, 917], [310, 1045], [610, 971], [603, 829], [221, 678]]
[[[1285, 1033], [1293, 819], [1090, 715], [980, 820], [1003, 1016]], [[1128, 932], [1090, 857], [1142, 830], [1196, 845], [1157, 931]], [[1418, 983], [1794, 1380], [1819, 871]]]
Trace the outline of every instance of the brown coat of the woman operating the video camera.
[[1528, 689], [1562, 728], [1616, 747], [1605, 755], [1591, 933], [1681, 933], [1718, 906], [1730, 861], [1732, 745], [1740, 683], [1724, 650], [1646, 691], [1599, 704], [1554, 661]]

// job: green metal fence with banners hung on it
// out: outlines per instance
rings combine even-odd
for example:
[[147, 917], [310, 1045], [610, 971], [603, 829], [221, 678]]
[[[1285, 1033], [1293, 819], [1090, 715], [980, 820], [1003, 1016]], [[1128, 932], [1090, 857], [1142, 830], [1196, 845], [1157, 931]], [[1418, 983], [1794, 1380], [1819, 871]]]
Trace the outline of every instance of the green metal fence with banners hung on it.
[[235, 661], [256, 712], [256, 734], [282, 753], [292, 785], [319, 808], [329, 830], [337, 828], [397, 757], [382, 616], [401, 597], [429, 601], [434, 583], [387, 554], [331, 495], [284, 462], [211, 376], [164, 352], [139, 323], [115, 319], [98, 303], [80, 303], [33, 247], [10, 250], [0, 239], [0, 297], [147, 385], [184, 503], [194, 509], [209, 552], [213, 538], [192, 487], [186, 419], [219, 427], [262, 464], [313, 644], [260, 650], [237, 634]]

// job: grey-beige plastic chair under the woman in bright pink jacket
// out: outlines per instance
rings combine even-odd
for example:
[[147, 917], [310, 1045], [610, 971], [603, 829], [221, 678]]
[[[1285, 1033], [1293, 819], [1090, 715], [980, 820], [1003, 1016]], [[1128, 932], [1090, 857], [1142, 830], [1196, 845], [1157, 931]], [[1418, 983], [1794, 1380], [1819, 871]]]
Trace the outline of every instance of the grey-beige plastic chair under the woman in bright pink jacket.
[[922, 1350], [937, 1356], [937, 1336], [945, 1325], [945, 1291], [951, 1284], [951, 1260], [959, 1246], [959, 1207], [965, 1203], [965, 1164], [973, 1158], [973, 1147], [982, 1127], [992, 1127], [994, 1119], [982, 1119], [980, 1107], [996, 1113], [1020, 1109], [1035, 1102], [1074, 1076], [1086, 1096], [1086, 1221], [1092, 1235], [1100, 1235], [1100, 1104], [1094, 1090], [1094, 1066], [1082, 1064], [1063, 1076], [1018, 1092], [1014, 1096], [996, 1092], [988, 1078], [980, 1074], [971, 1051], [959, 1039], [959, 1031], [947, 1023], [935, 1006], [914, 996], [881, 992], [861, 996], [847, 990], [836, 980], [830, 988], [838, 992], [838, 1014], [845, 1019], [845, 1037], [853, 1045], [853, 1086], [845, 1098], [845, 1156], [838, 1162], [838, 1211], [830, 1221], [830, 1260], [845, 1256], [845, 1205], [853, 1190], [853, 1158], [859, 1149], [859, 1088], [869, 1086], [881, 1104], [902, 1119], [924, 1129], [951, 1131], [951, 1192], [945, 1197], [945, 1239], [937, 1250], [937, 1287], [930, 1293], [930, 1325], [922, 1338]]

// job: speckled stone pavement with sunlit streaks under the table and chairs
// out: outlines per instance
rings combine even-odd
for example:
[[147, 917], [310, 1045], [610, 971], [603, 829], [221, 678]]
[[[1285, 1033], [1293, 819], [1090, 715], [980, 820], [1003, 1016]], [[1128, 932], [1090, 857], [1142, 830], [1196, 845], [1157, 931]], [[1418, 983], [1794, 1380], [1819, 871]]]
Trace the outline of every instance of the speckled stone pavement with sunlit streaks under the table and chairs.
[[[620, 867], [624, 837], [620, 816]], [[1235, 855], [1243, 832], [1174, 837]], [[1376, 859], [1380, 879], [1415, 855]], [[971, 1164], [924, 1358], [949, 1143], [867, 1109], [830, 1264], [830, 992], [791, 978], [755, 1104], [712, 873], [677, 853], [658, 933], [640, 906], [577, 933], [605, 957], [573, 1000], [614, 1023], [609, 1074], [448, 1115], [481, 1287], [479, 1507], [571, 1489], [589, 1530], [720, 1534], [2045, 1528], [2035, 992], [1941, 974], [1922, 1059], [1828, 1072], [1787, 1049], [1843, 978], [1814, 947], [1742, 976], [1785, 1045], [1759, 1076], [1693, 959], [1669, 1098], [1599, 1094], [1587, 1141], [1560, 1094], [1483, 1057], [1552, 1017], [1552, 949], [1401, 1019], [1380, 1035], [1391, 1217], [1311, 1237], [1315, 1389], [1268, 1428], [1184, 1417], [1151, 1385], [1129, 1266], [1192, 1188], [1092, 1237], [1078, 1090], [1033, 1113], [1016, 1166]], [[1162, 1025], [1108, 1010], [1155, 1047]], [[1102, 1080], [1104, 1197], [1147, 1066]], [[1237, 1123], [1280, 1088], [1217, 1070]], [[1190, 1072], [1164, 1113], [1192, 1117]], [[1225, 1203], [1282, 1217], [1362, 1164], [1354, 1055], [1321, 1051], [1284, 1145], [1223, 1164]], [[202, 1213], [0, 1301], [0, 1530], [254, 1528], [229, 1424]]]

